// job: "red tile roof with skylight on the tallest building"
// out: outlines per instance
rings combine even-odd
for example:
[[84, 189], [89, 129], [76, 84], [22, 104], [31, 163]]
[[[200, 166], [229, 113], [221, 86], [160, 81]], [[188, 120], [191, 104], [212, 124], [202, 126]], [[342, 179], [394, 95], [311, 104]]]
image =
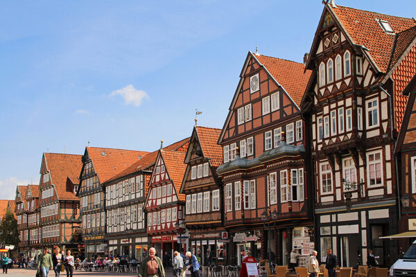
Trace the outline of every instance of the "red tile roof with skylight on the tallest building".
[[383, 15], [367, 10], [358, 10], [345, 6], [329, 7], [343, 24], [354, 44], [365, 46], [381, 72], [388, 71], [390, 57], [394, 47], [395, 35], [385, 33], [375, 19], [388, 21], [395, 33], [401, 33], [408, 28], [416, 26], [411, 18]]

